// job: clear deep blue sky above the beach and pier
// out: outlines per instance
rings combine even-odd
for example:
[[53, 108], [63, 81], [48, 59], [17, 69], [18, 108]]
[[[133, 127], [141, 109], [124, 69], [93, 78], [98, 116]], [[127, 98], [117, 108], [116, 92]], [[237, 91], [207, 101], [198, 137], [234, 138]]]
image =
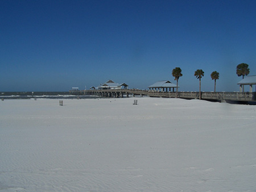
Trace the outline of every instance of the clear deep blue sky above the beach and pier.
[[[256, 1], [0, 1], [0, 91], [88, 89], [109, 79], [147, 89], [238, 91], [256, 74]], [[249, 88], [248, 88], [249, 89]]]

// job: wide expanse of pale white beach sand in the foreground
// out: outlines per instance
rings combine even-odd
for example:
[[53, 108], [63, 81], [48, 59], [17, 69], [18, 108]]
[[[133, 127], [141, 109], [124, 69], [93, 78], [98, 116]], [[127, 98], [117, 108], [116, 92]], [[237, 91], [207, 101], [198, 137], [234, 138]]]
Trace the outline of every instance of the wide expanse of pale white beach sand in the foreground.
[[63, 102], [0, 101], [0, 191], [256, 191], [256, 106]]

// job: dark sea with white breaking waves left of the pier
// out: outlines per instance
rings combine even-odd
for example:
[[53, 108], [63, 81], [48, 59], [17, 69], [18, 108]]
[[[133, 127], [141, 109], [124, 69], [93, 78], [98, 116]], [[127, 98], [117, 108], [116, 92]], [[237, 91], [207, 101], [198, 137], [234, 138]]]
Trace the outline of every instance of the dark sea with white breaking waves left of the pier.
[[72, 95], [69, 91], [0, 92], [1, 99], [93, 99], [90, 95]]

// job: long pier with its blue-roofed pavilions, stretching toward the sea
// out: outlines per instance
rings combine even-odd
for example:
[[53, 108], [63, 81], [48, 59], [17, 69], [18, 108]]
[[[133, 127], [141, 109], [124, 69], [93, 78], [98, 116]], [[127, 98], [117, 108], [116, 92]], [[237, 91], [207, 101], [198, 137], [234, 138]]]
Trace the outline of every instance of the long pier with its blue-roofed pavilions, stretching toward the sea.
[[[233, 103], [253, 102], [256, 104], [256, 92], [253, 92], [253, 85], [256, 85], [256, 76], [247, 76], [238, 82], [238, 85], [240, 85], [240, 92], [201, 91], [201, 99]], [[245, 85], [250, 86], [250, 92], [242, 92], [242, 86]], [[168, 80], [155, 82], [155, 84], [148, 86], [149, 90], [127, 89], [127, 87], [127, 84], [117, 84], [109, 80], [97, 88], [90, 87], [89, 90], [79, 90], [78, 87], [72, 87], [69, 93], [113, 98], [138, 97], [138, 95], [143, 97], [146, 95], [148, 97], [200, 99], [200, 94], [196, 91], [179, 91], [176, 93], [177, 86]]]

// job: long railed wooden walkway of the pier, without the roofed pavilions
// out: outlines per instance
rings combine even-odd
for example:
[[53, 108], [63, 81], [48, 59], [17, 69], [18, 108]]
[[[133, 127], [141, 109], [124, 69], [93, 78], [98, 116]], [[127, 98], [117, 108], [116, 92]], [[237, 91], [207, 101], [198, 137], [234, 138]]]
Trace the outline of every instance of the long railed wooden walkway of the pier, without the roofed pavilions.
[[[161, 91], [149, 91], [149, 90], [139, 90], [139, 89], [109, 89], [109, 90], [78, 90], [69, 91], [70, 94], [78, 95], [97, 95], [100, 97], [135, 97], [139, 95], [143, 97], [147, 95], [149, 97], [165, 97], [165, 98], [175, 98], [175, 92], [161, 92]], [[256, 93], [241, 93], [241, 92], [201, 92], [201, 99], [204, 100], [214, 100], [214, 101], [255, 101]], [[184, 99], [199, 99], [199, 92], [196, 91], [180, 91], [178, 92], [177, 98]]]

